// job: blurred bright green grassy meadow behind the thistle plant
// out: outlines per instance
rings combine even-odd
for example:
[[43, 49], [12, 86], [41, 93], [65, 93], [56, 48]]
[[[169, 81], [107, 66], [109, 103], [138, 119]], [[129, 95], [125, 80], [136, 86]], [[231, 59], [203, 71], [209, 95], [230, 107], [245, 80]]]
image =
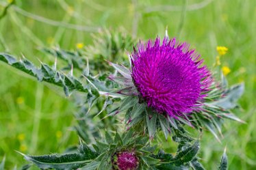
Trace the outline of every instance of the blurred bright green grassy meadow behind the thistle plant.
[[[8, 1], [0, 0], [0, 15]], [[0, 51], [39, 63], [53, 62], [38, 47], [59, 44], [74, 49], [91, 44], [99, 28], [123, 29], [146, 40], [170, 37], [189, 42], [212, 68], [216, 46], [227, 46], [221, 57], [228, 66], [230, 84], [245, 82], [236, 115], [246, 124], [226, 121], [218, 143], [205, 132], [201, 158], [206, 169], [216, 169], [227, 145], [229, 169], [256, 169], [256, 1], [255, 0], [17, 0], [0, 20]], [[17, 70], [0, 63], [0, 160], [7, 168], [25, 164], [25, 154], [63, 152], [77, 144], [69, 127], [75, 124], [75, 106], [62, 91], [23, 78]]]

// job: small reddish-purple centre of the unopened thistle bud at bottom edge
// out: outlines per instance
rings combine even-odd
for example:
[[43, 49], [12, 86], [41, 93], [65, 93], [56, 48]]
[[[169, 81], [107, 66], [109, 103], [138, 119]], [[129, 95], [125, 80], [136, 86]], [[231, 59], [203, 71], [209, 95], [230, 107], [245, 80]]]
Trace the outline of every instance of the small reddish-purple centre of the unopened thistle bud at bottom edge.
[[113, 169], [136, 170], [139, 160], [134, 152], [118, 152], [112, 158]]

